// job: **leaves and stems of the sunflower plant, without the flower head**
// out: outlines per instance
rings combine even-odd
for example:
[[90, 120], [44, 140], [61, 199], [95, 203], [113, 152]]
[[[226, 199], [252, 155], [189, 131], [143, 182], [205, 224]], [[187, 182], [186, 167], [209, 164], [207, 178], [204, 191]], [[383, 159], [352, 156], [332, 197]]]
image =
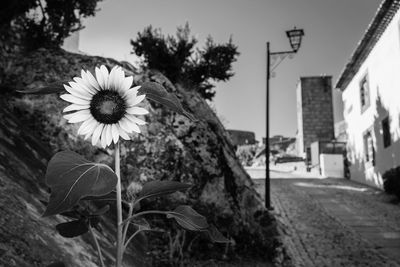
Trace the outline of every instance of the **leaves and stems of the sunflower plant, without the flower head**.
[[[189, 113], [185, 114], [177, 98], [171, 97], [161, 85], [156, 83], [145, 83], [145, 85], [144, 92], [149, 92], [152, 100], [191, 118]], [[62, 89], [59, 85], [52, 84], [36, 90], [29, 90], [26, 93], [41, 95], [60, 91]], [[152, 181], [146, 183], [137, 193], [127, 194], [127, 197], [122, 199], [119, 143], [114, 149], [115, 172], [105, 164], [90, 162], [72, 151], [58, 152], [49, 161], [46, 184], [51, 188], [51, 195], [43, 216], [60, 214], [72, 219], [56, 226], [60, 235], [72, 238], [90, 232], [96, 243], [101, 266], [104, 267], [102, 250], [92, 228], [98, 227], [100, 216], [107, 213], [110, 206], [105, 205], [95, 211], [90, 207], [91, 201], [110, 201], [117, 207], [117, 267], [122, 266], [123, 254], [131, 241], [135, 247], [135, 259], [140, 262], [140, 265], [144, 264], [145, 250], [143, 248], [147, 247], [147, 242], [139, 242], [137, 239], [142, 237], [143, 231], [152, 231], [150, 224], [143, 218], [145, 215], [165, 215], [166, 218], [174, 219], [183, 229], [206, 232], [213, 242], [230, 242], [214, 225], [208, 224], [204, 216], [188, 205], [180, 205], [173, 211], [141, 210], [140, 202], [142, 200], [187, 190], [190, 187], [188, 184], [176, 181]], [[124, 220], [123, 204], [129, 208]], [[133, 233], [128, 231], [131, 225], [135, 227]], [[133, 242], [135, 240], [137, 242]]]

